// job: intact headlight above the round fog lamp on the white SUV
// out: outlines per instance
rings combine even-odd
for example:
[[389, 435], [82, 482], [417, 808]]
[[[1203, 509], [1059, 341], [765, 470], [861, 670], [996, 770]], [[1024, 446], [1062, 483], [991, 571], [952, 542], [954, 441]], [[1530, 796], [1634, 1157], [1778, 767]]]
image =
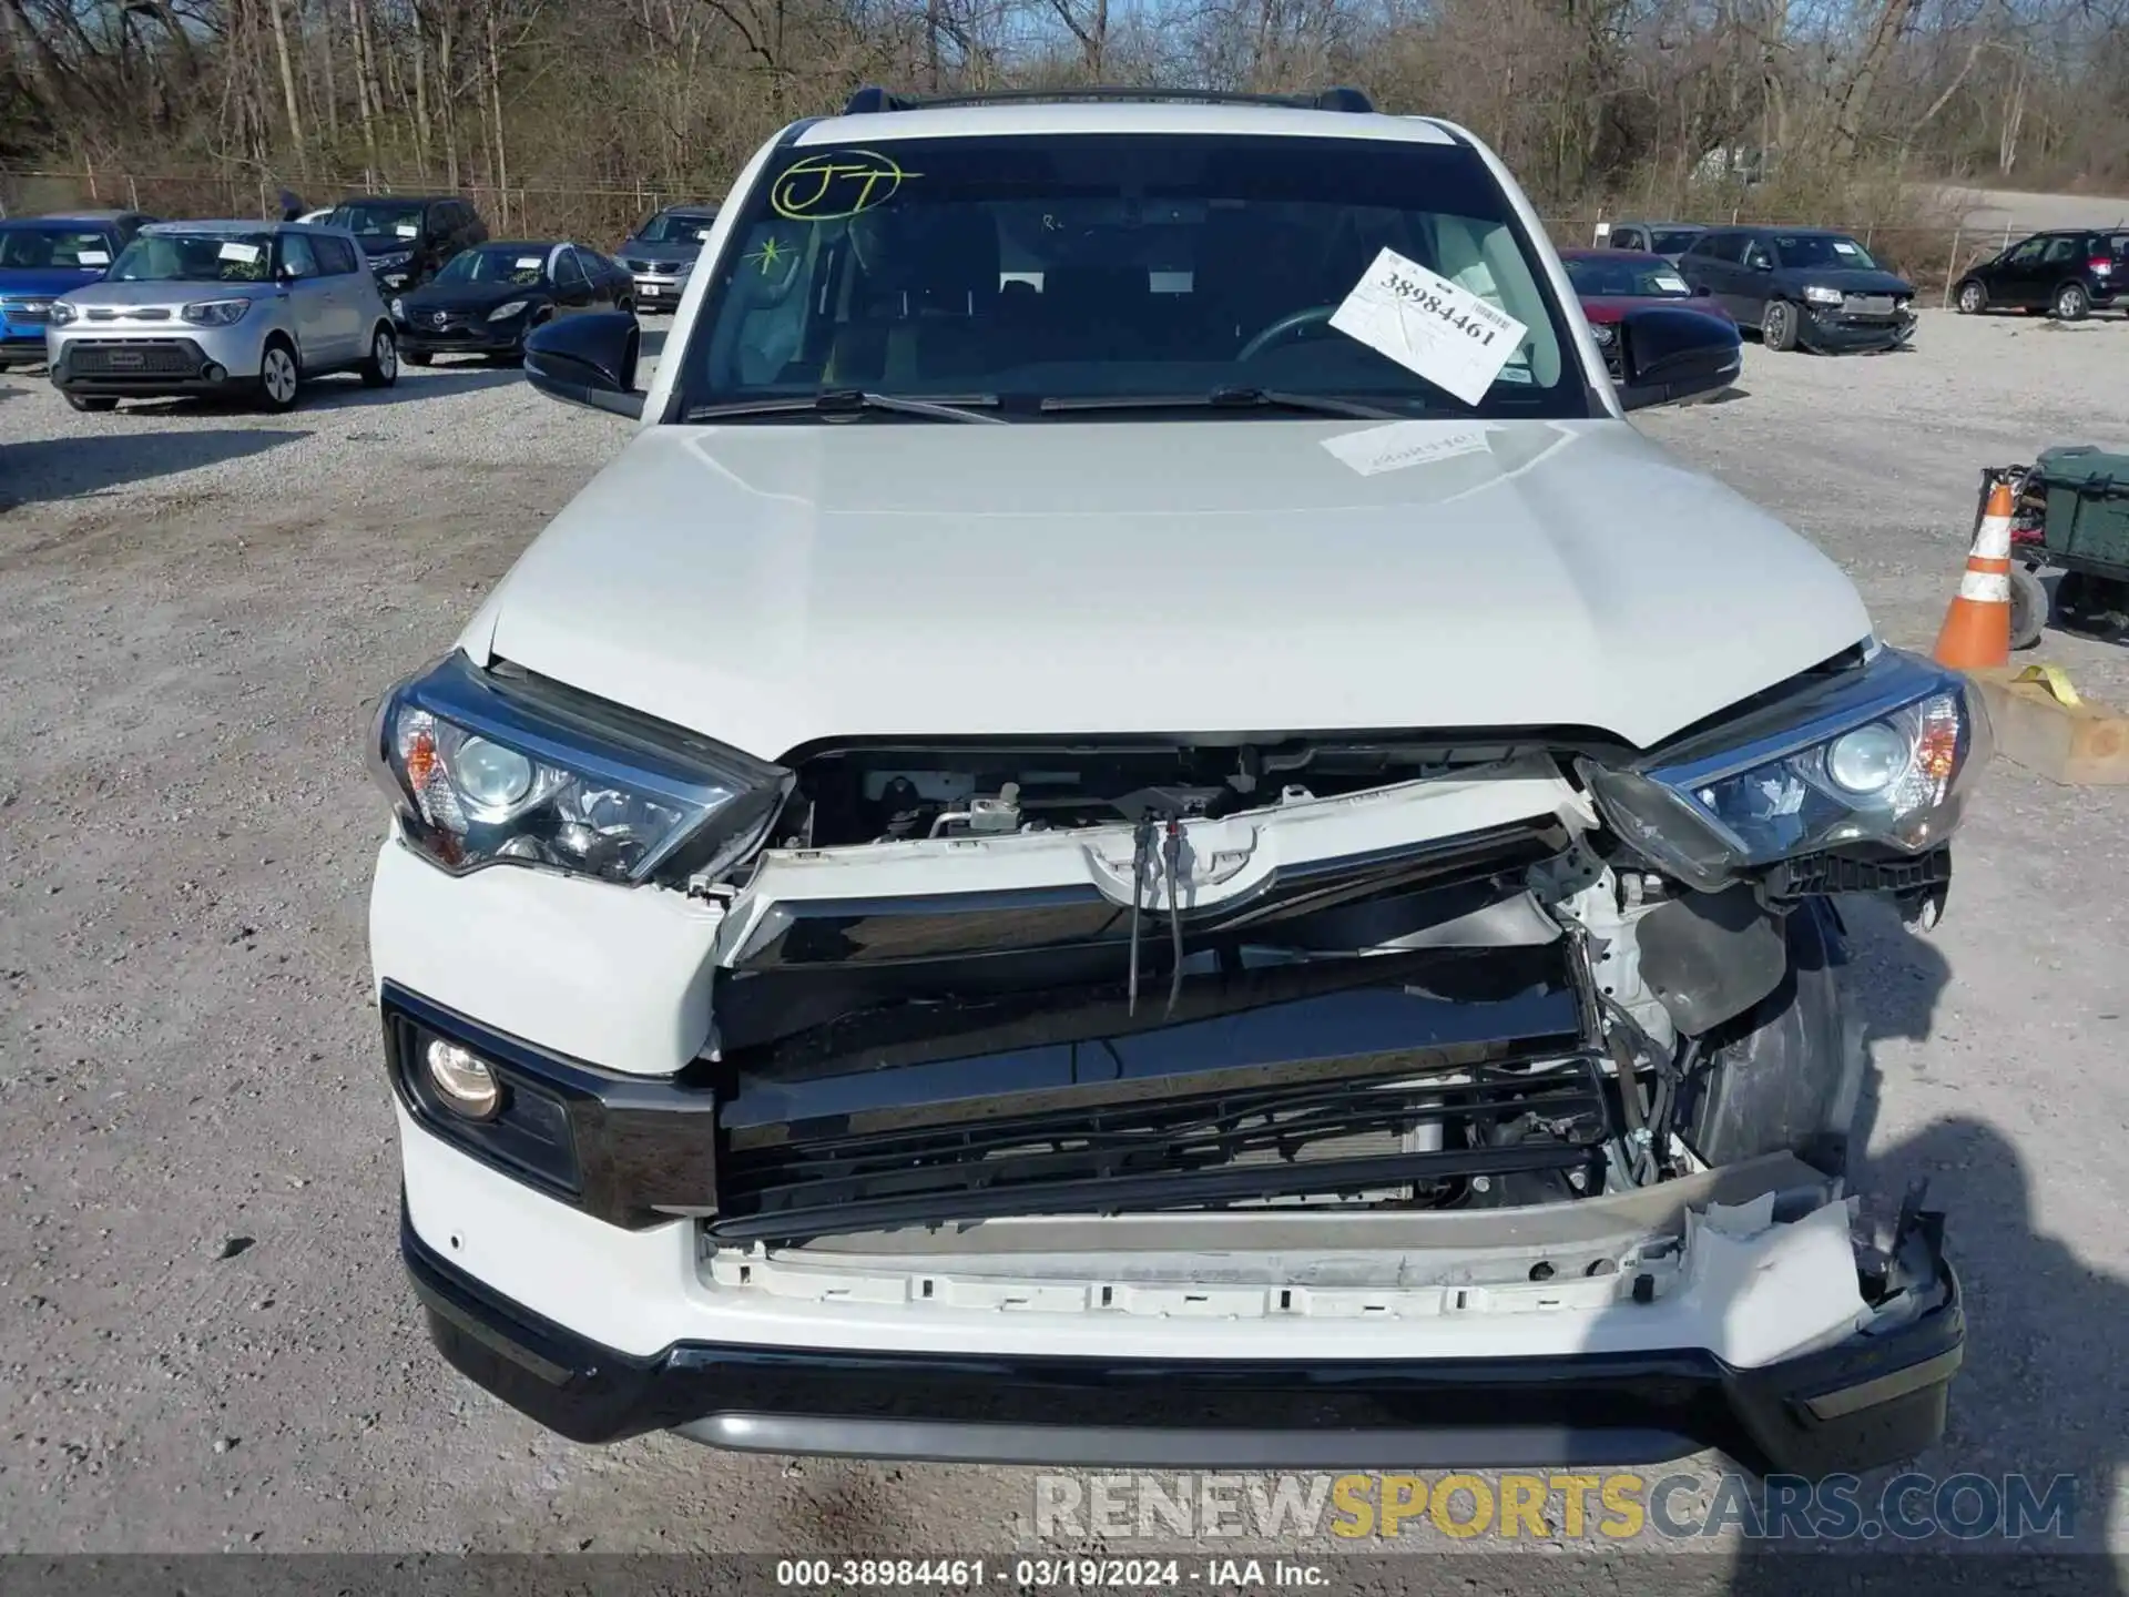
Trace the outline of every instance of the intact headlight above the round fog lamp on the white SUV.
[[394, 688], [370, 743], [419, 854], [453, 875], [532, 865], [607, 882], [715, 875], [775, 820], [790, 773], [453, 654]]

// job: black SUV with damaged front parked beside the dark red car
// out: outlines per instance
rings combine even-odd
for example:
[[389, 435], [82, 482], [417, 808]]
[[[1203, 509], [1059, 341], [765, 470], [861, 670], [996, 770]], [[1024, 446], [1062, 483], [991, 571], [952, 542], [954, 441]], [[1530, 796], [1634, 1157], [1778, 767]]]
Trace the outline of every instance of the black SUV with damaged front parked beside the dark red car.
[[1739, 328], [1769, 349], [1837, 356], [1897, 349], [1914, 336], [1914, 283], [1829, 228], [1710, 228], [1678, 258]]

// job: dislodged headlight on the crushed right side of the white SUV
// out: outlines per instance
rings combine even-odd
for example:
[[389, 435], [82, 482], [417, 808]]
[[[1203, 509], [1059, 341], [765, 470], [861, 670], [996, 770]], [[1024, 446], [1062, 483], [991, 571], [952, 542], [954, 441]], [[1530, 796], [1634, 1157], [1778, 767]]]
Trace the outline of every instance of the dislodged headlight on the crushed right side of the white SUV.
[[1701, 890], [1844, 845], [1922, 854], [1988, 758], [1980, 694], [1897, 649], [1635, 769], [1578, 764], [1612, 828]]

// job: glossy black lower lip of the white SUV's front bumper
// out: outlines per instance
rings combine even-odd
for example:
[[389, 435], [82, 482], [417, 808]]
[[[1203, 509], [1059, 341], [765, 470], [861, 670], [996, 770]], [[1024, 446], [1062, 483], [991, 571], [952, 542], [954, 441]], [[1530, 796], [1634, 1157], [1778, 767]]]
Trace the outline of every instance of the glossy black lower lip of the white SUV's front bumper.
[[1618, 1465], [1712, 1446], [1820, 1478], [1931, 1446], [1965, 1348], [1940, 1261], [1933, 1312], [1761, 1369], [1699, 1350], [1314, 1363], [677, 1341], [630, 1356], [453, 1267], [405, 1209], [400, 1248], [443, 1356], [590, 1444], [673, 1429], [745, 1452], [1177, 1469]]

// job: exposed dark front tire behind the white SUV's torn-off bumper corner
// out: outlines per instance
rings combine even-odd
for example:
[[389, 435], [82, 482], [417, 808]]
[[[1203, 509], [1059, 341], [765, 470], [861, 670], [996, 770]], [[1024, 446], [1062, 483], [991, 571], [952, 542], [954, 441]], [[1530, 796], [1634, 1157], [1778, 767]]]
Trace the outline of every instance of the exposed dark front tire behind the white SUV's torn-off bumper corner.
[[1863, 1092], [1863, 1024], [1839, 967], [1846, 939], [1831, 903], [1805, 899], [1782, 928], [1788, 971], [1752, 1009], [1710, 1035], [1712, 1050], [1678, 1124], [1710, 1165], [1790, 1152], [1846, 1178]]

